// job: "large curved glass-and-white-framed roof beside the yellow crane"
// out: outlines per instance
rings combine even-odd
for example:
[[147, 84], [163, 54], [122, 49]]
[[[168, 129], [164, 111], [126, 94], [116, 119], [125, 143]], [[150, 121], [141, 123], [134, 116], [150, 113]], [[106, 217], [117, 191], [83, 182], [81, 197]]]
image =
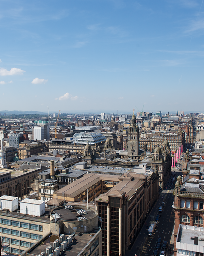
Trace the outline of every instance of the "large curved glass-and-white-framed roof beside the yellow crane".
[[105, 142], [106, 137], [99, 132], [79, 132], [75, 133], [72, 143], [95, 145], [96, 143]]

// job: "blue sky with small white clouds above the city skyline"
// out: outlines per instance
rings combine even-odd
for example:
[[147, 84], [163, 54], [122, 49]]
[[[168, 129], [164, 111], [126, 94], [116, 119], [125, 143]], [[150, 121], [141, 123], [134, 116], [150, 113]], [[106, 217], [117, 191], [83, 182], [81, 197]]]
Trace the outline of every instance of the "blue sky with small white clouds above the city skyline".
[[1, 110], [203, 111], [203, 0], [0, 0]]

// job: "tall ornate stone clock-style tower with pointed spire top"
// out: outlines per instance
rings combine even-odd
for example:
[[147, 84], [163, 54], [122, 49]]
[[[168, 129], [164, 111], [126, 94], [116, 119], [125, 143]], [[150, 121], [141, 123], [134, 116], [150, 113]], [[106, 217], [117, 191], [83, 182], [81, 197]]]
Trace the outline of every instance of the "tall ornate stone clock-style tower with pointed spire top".
[[[128, 132], [128, 157], [133, 158], [139, 155], [139, 127], [136, 124], [136, 117], [133, 112], [132, 124]], [[134, 158], [133, 158], [134, 159]]]

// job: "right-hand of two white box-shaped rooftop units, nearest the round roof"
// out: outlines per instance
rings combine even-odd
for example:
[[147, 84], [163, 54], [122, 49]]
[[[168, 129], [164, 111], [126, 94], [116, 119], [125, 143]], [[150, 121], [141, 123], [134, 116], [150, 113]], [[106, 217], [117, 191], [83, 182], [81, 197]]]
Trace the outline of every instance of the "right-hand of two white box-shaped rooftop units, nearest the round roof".
[[45, 201], [25, 198], [20, 201], [20, 213], [41, 216], [45, 213]]

